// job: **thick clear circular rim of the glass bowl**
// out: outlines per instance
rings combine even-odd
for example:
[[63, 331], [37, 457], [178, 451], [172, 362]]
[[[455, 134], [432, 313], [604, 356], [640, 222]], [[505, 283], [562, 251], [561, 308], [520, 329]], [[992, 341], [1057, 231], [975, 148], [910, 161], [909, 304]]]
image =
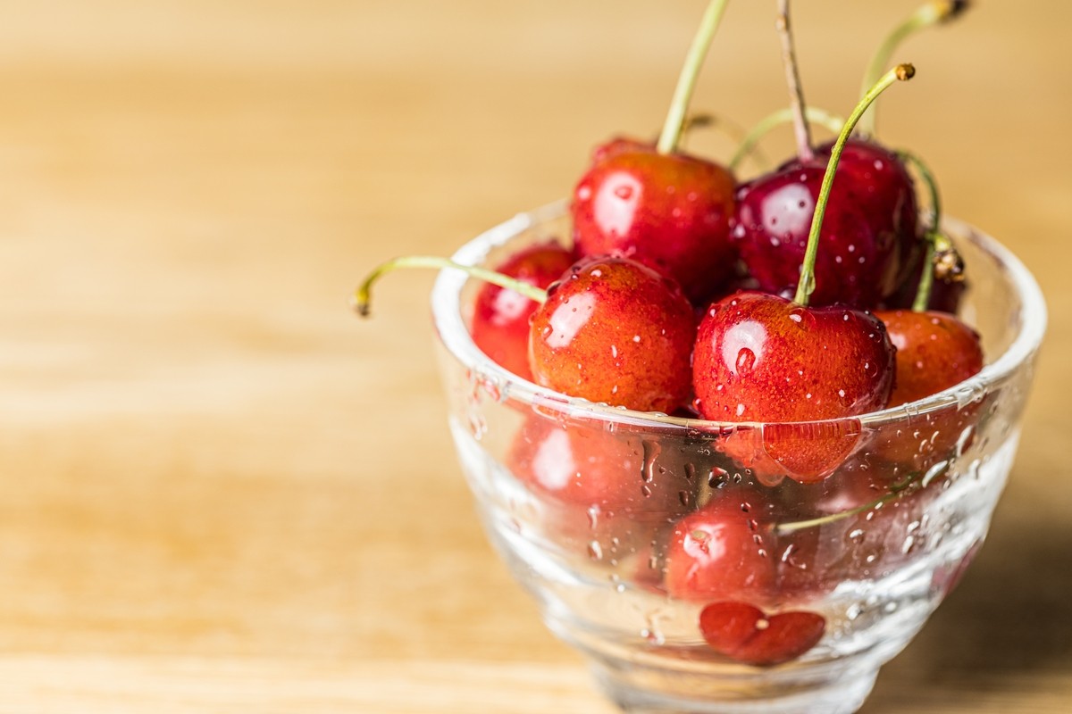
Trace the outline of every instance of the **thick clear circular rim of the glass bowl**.
[[[519, 233], [534, 226], [563, 217], [567, 208], [568, 201], [561, 199], [532, 211], [519, 213], [466, 242], [455, 252], [451, 260], [463, 265], [481, 264], [494, 248], [503, 246]], [[1022, 324], [1013, 341], [997, 359], [984, 365], [979, 374], [923, 399], [853, 416], [812, 422], [787, 422], [785, 424], [831, 424], [848, 421], [878, 427], [882, 424], [900, 422], [946, 409], [952, 405], [963, 407], [982, 399], [986, 394], [1009, 381], [1016, 370], [1038, 352], [1045, 334], [1047, 315], [1042, 290], [1031, 273], [1012, 252], [974, 226], [957, 218], [944, 217], [942, 227], [957, 237], [958, 240], [969, 241], [977, 245], [1009, 275], [1010, 283], [1022, 301]], [[717, 422], [612, 407], [580, 397], [571, 397], [519, 377], [491, 360], [473, 341], [460, 307], [462, 289], [470, 279], [462, 271], [440, 271], [431, 294], [433, 323], [443, 345], [470, 370], [471, 379], [482, 383], [501, 400], [512, 398], [530, 404], [541, 411], [565, 412], [574, 417], [626, 423], [636, 427], [659, 430], [686, 428], [723, 432], [728, 429], [760, 428], [764, 424], [761, 422]]]

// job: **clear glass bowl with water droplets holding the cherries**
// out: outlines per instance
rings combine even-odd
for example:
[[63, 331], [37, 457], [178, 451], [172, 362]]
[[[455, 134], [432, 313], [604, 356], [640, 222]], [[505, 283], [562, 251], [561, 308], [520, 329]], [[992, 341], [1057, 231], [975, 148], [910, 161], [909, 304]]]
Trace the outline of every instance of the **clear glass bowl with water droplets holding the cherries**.
[[[480, 352], [467, 329], [479, 285], [441, 273], [449, 424], [482, 522], [620, 707], [854, 712], [956, 584], [1009, 474], [1046, 317], [1014, 256], [946, 228], [987, 365], [924, 400], [829, 422], [719, 424], [565, 397]], [[569, 236], [559, 203], [453, 259], [494, 265]], [[836, 466], [818, 484], [758, 478], [727, 455], [784, 460], [807, 445]]]

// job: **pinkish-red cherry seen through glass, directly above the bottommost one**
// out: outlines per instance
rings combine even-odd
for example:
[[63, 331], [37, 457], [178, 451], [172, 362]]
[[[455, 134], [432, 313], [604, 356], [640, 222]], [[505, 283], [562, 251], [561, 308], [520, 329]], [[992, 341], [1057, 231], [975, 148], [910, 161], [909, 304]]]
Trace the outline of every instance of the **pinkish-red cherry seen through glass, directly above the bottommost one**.
[[777, 588], [772, 508], [759, 491], [725, 489], [681, 519], [667, 548], [667, 592], [687, 601], [769, 601]]

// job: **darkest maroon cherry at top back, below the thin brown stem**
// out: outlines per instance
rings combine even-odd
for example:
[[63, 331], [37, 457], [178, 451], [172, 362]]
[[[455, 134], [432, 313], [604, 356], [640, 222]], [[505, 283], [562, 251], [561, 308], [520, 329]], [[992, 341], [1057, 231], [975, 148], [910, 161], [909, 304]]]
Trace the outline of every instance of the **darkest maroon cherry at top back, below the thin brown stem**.
[[[854, 145], [854, 157], [847, 162]], [[860, 142], [850, 142], [842, 155], [847, 166], [837, 167], [819, 234], [810, 297], [815, 305], [876, 306], [898, 285], [907, 259], [903, 255], [915, 241], [914, 221], [902, 225], [905, 192], [879, 181], [897, 172], [878, 171], [878, 159], [866, 155]], [[790, 295], [796, 287], [827, 158], [794, 159], [738, 191], [734, 239], [749, 274], [765, 292]], [[908, 209], [914, 212], [914, 199]]]

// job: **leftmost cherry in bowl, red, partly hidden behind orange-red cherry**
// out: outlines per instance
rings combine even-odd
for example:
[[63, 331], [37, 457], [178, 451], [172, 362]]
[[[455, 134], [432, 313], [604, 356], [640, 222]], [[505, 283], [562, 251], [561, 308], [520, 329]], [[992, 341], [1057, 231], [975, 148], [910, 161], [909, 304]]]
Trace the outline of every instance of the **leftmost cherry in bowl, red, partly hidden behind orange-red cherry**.
[[[496, 272], [547, 288], [574, 263], [568, 248], [554, 241], [532, 245], [498, 265]], [[488, 284], [473, 309], [473, 341], [496, 363], [532, 379], [528, 368], [528, 318], [539, 303], [509, 288]]]

